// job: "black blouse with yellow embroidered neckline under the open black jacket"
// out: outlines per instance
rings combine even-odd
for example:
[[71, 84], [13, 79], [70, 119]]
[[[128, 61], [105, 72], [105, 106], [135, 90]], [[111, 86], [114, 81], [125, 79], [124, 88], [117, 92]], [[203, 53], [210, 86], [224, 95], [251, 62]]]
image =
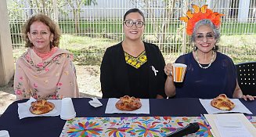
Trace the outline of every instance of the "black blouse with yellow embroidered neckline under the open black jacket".
[[131, 95], [141, 99], [149, 99], [149, 69], [146, 59], [146, 51], [134, 57], [124, 52], [128, 69], [128, 84]]

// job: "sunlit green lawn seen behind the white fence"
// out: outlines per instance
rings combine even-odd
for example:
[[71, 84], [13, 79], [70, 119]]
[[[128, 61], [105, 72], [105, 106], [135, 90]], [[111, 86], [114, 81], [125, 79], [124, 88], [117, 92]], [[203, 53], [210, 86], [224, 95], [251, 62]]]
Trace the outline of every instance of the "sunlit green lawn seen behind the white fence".
[[[106, 48], [116, 45], [118, 42], [120, 41], [114, 41], [108, 38], [90, 38], [63, 34], [59, 47], [74, 53], [74, 61], [77, 61], [80, 65], [99, 66]], [[175, 51], [169, 53], [162, 51], [167, 63], [174, 62], [180, 56], [181, 49], [177, 49], [176, 45], [165, 45], [168, 46], [168, 49], [174, 49], [170, 51]], [[256, 60], [256, 47], [254, 46], [256, 45], [256, 34], [222, 35], [218, 45], [220, 46], [219, 51], [230, 56], [234, 63]], [[14, 58], [16, 59], [26, 50], [23, 47], [13, 49]]]

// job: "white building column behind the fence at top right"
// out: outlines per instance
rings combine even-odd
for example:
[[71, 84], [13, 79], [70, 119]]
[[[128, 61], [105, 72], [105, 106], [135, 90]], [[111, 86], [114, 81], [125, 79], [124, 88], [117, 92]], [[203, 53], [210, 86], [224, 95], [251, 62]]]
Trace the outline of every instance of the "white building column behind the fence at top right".
[[247, 22], [249, 16], [250, 0], [240, 0], [238, 9], [238, 21]]

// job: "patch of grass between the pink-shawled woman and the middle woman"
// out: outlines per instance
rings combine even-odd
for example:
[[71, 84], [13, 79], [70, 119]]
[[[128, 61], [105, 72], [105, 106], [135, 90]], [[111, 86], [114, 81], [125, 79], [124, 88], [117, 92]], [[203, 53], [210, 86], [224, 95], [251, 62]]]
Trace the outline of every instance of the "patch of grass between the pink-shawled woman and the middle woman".
[[74, 61], [78, 61], [79, 64], [100, 65], [106, 48], [117, 44], [117, 41], [63, 34], [60, 43], [60, 48], [74, 53]]

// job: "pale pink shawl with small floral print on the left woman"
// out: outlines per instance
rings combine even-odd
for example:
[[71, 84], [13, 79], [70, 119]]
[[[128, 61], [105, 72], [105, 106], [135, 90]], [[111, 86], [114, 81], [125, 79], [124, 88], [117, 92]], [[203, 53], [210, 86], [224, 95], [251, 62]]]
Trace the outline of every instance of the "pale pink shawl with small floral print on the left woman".
[[[70, 88], [73, 88], [76, 82], [74, 72], [72, 72], [74, 66], [70, 66], [73, 64], [70, 58], [73, 56], [59, 49], [56, 54], [43, 61], [35, 55], [33, 49], [28, 49], [16, 63], [16, 78], [13, 85], [16, 95], [19, 96], [19, 99], [31, 96], [35, 99], [63, 98], [63, 94], [66, 94], [66, 91], [70, 92]], [[65, 65], [66, 61], [70, 61], [70, 63]], [[56, 67], [63, 69], [63, 72]], [[45, 91], [45, 87], [50, 90]], [[67, 95], [69, 94], [67, 93]]]

